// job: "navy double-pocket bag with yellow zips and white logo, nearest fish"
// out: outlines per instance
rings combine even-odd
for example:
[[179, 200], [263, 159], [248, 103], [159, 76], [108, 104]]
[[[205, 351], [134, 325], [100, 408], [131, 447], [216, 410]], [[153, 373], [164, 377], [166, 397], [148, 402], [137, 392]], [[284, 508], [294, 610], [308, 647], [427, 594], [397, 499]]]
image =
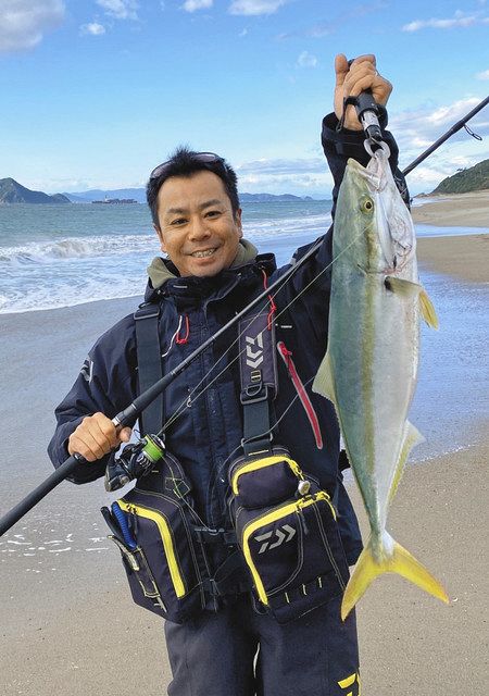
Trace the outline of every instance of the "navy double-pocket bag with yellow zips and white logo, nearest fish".
[[349, 571], [330, 497], [285, 448], [238, 459], [229, 485], [254, 593], [279, 623], [343, 593]]

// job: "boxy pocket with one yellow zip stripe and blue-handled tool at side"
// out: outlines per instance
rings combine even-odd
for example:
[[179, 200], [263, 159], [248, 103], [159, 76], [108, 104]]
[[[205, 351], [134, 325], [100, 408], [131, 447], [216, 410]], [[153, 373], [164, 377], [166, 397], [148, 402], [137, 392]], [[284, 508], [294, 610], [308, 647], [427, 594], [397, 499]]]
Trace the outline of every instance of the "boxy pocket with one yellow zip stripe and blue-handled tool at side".
[[176, 623], [200, 611], [201, 563], [188, 510], [164, 494], [136, 487], [114, 502], [112, 511], [124, 544], [121, 535], [112, 538], [122, 552], [134, 601]]

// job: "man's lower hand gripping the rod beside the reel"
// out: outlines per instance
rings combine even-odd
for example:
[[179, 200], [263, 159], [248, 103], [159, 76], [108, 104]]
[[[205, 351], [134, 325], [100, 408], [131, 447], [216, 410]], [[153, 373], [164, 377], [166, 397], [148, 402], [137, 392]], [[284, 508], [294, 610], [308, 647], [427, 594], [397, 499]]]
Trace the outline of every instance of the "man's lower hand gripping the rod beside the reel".
[[130, 439], [130, 427], [123, 427], [117, 432], [112, 421], [103, 413], [93, 413], [84, 418], [68, 439], [67, 450], [85, 457], [87, 461], [97, 461], [121, 443]]

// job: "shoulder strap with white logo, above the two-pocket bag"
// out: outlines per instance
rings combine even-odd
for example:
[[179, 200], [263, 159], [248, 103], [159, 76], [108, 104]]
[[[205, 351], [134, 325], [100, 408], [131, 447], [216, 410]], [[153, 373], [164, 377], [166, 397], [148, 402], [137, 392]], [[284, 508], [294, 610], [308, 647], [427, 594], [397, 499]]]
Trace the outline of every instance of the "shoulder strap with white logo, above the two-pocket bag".
[[271, 411], [277, 394], [275, 324], [268, 312], [247, 316], [239, 323], [242, 448], [247, 456], [272, 450]]

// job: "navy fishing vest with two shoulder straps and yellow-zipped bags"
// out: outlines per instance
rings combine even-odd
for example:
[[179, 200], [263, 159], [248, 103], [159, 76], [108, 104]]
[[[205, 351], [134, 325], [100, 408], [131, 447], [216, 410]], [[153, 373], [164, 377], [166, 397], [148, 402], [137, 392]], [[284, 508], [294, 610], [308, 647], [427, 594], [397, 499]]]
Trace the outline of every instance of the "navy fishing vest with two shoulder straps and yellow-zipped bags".
[[[154, 303], [143, 303], [135, 313], [140, 391], [162, 376], [159, 316], [160, 306]], [[293, 461], [274, 440], [276, 355], [271, 313], [241, 320], [243, 437], [242, 452], [227, 472], [230, 529], [202, 523], [188, 478], [166, 451], [145, 476], [143, 488], [138, 481], [113, 505], [112, 521], [126, 532], [125, 548], [117, 546], [133, 597], [171, 621], [185, 621], [204, 608], [217, 610], [252, 589], [258, 610], [284, 623], [340, 595], [348, 582], [330, 496], [308, 475], [306, 462]], [[142, 433], [161, 430], [163, 410], [160, 398], [143, 411]], [[227, 548], [217, 566], [215, 544]]]

